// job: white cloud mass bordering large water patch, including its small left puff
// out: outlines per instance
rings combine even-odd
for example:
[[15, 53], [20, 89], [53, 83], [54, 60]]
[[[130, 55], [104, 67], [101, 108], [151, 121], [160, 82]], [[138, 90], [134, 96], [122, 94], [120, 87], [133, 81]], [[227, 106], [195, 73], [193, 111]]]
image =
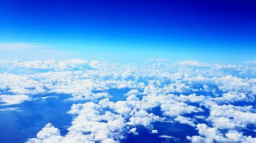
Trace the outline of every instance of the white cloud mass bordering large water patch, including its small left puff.
[[118, 142], [123, 139], [129, 127], [122, 116], [110, 111], [102, 114], [101, 111], [101, 105], [93, 102], [73, 104], [69, 113], [74, 116], [74, 120], [66, 136], [60, 136], [58, 129], [47, 124], [37, 133], [37, 138], [29, 139], [28, 142]]

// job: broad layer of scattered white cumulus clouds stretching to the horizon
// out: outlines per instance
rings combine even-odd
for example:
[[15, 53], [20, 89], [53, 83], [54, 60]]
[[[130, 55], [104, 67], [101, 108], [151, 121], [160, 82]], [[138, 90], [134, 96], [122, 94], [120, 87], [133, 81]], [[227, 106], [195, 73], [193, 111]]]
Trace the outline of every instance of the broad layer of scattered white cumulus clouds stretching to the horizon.
[[[73, 120], [66, 135], [49, 123], [28, 142], [121, 142], [127, 134], [139, 135], [138, 126], [160, 132], [156, 122], [195, 127], [198, 134], [187, 136], [191, 142], [255, 142], [240, 131], [256, 125], [254, 67], [152, 61], [152, 65], [79, 59], [0, 61], [1, 105], [33, 101], [34, 95], [44, 93], [54, 96], [42, 100], [69, 94], [65, 100], [81, 101], [68, 111]], [[128, 92], [114, 102], [109, 91], [118, 89]], [[6, 110], [18, 109], [0, 111]]]

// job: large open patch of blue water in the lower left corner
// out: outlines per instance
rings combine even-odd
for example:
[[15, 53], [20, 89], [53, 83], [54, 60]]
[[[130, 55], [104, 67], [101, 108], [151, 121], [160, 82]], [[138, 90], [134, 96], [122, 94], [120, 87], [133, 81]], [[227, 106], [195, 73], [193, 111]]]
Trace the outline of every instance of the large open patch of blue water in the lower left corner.
[[[55, 94], [34, 95], [33, 98], [52, 95]], [[47, 123], [52, 123], [62, 135], [66, 134], [72, 121], [72, 117], [66, 112], [70, 110], [73, 102], [64, 100], [70, 95], [58, 96], [59, 98], [48, 98], [45, 101], [37, 99], [16, 105], [0, 106], [0, 109], [19, 107], [18, 110], [21, 110], [0, 111], [0, 142], [25, 142], [28, 138], [36, 137], [37, 132]]]

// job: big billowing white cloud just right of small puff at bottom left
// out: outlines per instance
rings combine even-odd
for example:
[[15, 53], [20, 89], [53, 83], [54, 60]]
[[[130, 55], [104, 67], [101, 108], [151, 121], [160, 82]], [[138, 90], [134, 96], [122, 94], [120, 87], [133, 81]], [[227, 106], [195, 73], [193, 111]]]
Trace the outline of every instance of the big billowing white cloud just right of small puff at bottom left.
[[88, 132], [91, 136], [94, 136], [88, 140], [95, 141], [123, 139], [123, 134], [127, 133], [129, 129], [126, 127], [123, 117], [109, 111], [101, 114], [101, 110], [101, 105], [93, 102], [74, 104], [69, 113], [77, 116], [72, 121], [72, 126], [68, 129], [70, 131], [69, 134]]

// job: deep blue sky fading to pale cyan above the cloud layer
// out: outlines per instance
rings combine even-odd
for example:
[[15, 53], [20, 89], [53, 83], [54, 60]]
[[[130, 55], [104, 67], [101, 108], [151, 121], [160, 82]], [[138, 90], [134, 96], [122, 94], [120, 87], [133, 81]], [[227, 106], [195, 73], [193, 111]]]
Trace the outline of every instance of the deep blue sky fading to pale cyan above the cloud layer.
[[256, 1], [0, 1], [0, 59], [245, 62]]

